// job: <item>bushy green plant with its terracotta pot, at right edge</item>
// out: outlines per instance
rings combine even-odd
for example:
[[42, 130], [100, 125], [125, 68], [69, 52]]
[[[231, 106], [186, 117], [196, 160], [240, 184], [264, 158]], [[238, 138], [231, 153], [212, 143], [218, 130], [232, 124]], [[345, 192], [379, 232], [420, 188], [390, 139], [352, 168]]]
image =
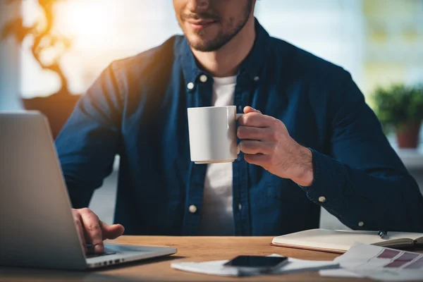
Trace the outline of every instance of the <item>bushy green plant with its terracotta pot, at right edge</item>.
[[417, 148], [423, 121], [423, 86], [378, 87], [372, 96], [385, 133], [395, 132], [400, 148]]

